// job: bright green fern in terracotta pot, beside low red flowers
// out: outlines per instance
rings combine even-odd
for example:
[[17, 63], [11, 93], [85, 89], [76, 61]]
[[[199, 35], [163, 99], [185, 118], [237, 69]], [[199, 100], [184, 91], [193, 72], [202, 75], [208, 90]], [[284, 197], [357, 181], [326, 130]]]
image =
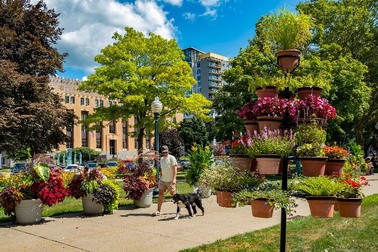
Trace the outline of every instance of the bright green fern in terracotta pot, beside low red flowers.
[[304, 177], [294, 180], [289, 185], [289, 190], [304, 193], [308, 196], [337, 196], [345, 189], [345, 184], [339, 183], [333, 177]]

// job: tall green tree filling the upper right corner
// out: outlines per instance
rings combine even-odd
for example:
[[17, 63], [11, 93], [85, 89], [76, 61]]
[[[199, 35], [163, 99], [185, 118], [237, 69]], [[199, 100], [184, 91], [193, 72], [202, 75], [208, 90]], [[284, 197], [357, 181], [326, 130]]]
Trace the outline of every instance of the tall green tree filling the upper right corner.
[[[317, 20], [313, 43], [322, 48], [336, 48], [333, 52], [329, 50], [331, 55], [323, 57], [350, 57], [367, 68], [364, 82], [368, 88], [361, 92], [368, 95], [368, 100], [363, 104], [363, 111], [352, 120], [356, 142], [364, 146], [366, 151], [370, 141], [365, 143], [364, 132], [372, 132], [366, 127], [378, 121], [378, 2], [311, 0], [298, 4], [297, 9]], [[343, 69], [345, 71], [351, 70]], [[353, 81], [353, 78], [349, 80]], [[347, 100], [341, 95], [339, 99]]]

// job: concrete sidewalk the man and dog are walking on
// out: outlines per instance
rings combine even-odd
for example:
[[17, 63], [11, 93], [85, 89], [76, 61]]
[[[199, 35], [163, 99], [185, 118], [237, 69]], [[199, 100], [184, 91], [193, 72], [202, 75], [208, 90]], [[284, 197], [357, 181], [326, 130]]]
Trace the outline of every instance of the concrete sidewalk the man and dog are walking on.
[[[371, 186], [365, 195], [378, 193], [378, 174], [366, 176]], [[187, 218], [186, 209], [174, 220], [176, 206], [166, 202], [162, 215], [151, 217], [156, 204], [147, 209], [121, 207], [114, 214], [89, 217], [83, 213], [46, 217], [36, 225], [0, 225], [1, 251], [177, 251], [238, 233], [280, 223], [281, 211], [273, 218], [251, 216], [250, 207], [222, 208], [215, 196], [203, 200], [205, 216]], [[298, 201], [298, 216], [309, 215], [308, 204]], [[201, 212], [201, 211], [200, 211]]]

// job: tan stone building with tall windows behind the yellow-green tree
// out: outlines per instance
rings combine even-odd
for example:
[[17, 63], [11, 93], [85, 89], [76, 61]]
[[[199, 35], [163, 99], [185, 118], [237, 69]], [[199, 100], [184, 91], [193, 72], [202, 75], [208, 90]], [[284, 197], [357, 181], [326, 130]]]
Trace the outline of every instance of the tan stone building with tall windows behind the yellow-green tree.
[[[53, 92], [58, 93], [63, 99], [64, 104], [75, 111], [75, 114], [84, 119], [88, 114], [93, 113], [95, 107], [117, 105], [117, 101], [108, 100], [97, 93], [86, 93], [77, 91], [81, 81], [50, 77], [49, 85]], [[183, 114], [177, 114], [175, 118], [170, 118], [177, 122], [182, 121]], [[66, 129], [69, 141], [66, 145], [60, 145], [59, 150], [74, 147], [90, 147], [93, 150], [101, 151], [100, 157], [117, 157], [120, 159], [131, 158], [137, 154], [138, 139], [128, 136], [130, 131], [135, 131], [134, 117], [128, 121], [103, 121], [105, 127], [100, 131], [93, 131], [93, 135], [87, 132], [85, 125], [78, 124]], [[148, 151], [153, 148], [153, 138], [145, 138], [143, 149]], [[57, 151], [57, 150], [55, 150]]]

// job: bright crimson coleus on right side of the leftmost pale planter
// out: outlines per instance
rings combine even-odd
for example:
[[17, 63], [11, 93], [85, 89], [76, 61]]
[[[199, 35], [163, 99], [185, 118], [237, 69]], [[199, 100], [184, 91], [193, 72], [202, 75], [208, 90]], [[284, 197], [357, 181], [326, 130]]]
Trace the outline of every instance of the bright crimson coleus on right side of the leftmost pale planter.
[[49, 207], [63, 202], [69, 195], [69, 190], [64, 187], [61, 174], [57, 170], [50, 171], [50, 177], [46, 182], [41, 180], [34, 183], [32, 190], [34, 193], [38, 193], [38, 199]]

